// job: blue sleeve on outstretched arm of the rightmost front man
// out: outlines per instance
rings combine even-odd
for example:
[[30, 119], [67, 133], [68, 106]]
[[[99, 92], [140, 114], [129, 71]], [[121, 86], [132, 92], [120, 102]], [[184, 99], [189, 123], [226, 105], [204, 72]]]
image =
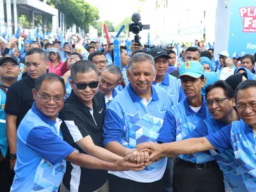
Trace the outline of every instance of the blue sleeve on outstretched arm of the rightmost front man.
[[220, 131], [207, 135], [208, 141], [218, 149], [219, 151], [224, 151], [225, 149], [233, 149], [231, 145], [231, 125], [223, 127]]

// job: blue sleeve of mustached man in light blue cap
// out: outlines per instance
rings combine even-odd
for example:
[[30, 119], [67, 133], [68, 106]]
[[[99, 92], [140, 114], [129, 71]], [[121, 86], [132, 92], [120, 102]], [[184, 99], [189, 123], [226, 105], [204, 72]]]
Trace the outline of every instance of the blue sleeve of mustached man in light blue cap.
[[157, 141], [162, 143], [176, 141], [176, 119], [170, 110], [166, 111], [164, 123], [162, 124]]

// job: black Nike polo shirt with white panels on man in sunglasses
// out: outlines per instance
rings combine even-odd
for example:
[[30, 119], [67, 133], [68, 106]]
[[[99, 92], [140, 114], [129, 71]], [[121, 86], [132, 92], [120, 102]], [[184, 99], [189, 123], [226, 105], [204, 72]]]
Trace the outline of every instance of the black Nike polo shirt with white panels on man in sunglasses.
[[[93, 99], [92, 109], [82, 103], [74, 91], [66, 99], [63, 109], [59, 112], [59, 118], [63, 121], [61, 132], [64, 139], [77, 149], [85, 153], [76, 142], [90, 135], [95, 145], [103, 147], [103, 124], [106, 111], [104, 95], [98, 92]], [[72, 174], [71, 174], [72, 173]], [[76, 181], [72, 178], [76, 175]], [[66, 173], [63, 177], [63, 184], [70, 190], [70, 183], [77, 186], [78, 191], [96, 191], [106, 183], [108, 172], [104, 170], [86, 169], [67, 162]], [[74, 184], [76, 183], [76, 184]], [[76, 187], [75, 187], [76, 188]], [[75, 190], [75, 191], [76, 191]]]

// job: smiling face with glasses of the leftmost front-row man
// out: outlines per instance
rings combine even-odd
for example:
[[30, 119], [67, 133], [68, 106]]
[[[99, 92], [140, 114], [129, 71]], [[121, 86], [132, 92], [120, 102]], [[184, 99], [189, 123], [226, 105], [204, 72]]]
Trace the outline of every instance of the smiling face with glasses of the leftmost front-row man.
[[[37, 109], [49, 119], [55, 121], [57, 113], [61, 111], [64, 105], [66, 93], [62, 84], [59, 81], [43, 81], [40, 89], [37, 92], [33, 89], [32, 93]], [[43, 99], [45, 97], [51, 97], [51, 99], [47, 101], [47, 99]], [[52, 97], [57, 99], [52, 99]]]

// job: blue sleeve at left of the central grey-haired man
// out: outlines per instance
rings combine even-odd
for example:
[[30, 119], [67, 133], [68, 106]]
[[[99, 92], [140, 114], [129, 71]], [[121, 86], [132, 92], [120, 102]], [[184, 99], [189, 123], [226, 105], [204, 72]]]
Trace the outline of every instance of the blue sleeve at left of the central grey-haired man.
[[103, 125], [104, 146], [111, 141], [122, 144], [122, 138], [125, 134], [124, 122], [112, 109], [107, 109], [105, 114], [105, 123]]

